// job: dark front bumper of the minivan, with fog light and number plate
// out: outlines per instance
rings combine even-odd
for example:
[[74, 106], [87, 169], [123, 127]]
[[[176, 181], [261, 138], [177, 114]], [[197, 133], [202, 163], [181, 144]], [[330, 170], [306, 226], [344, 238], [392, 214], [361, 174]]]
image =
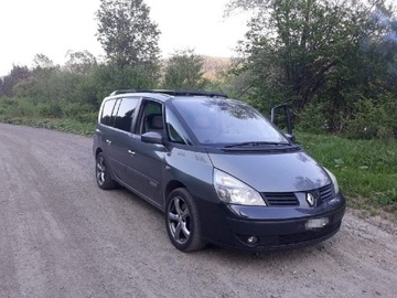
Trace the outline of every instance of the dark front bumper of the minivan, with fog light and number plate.
[[[217, 212], [207, 212], [208, 221], [204, 221], [208, 224], [204, 224], [203, 234], [210, 242], [232, 249], [290, 249], [313, 245], [333, 236], [345, 213], [345, 199], [339, 194], [313, 209], [225, 204], [216, 209]], [[216, 213], [217, 217], [211, 219], [211, 214]], [[312, 222], [322, 224], [313, 227], [308, 224]]]

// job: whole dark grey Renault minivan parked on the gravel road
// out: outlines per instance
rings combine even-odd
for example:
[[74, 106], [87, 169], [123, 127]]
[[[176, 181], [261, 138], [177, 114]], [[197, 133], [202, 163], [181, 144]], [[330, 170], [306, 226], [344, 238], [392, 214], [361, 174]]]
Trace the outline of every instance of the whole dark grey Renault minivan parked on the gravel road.
[[98, 187], [122, 185], [164, 212], [182, 252], [312, 245], [345, 212], [335, 177], [291, 134], [222, 94], [116, 91], [100, 106], [93, 152]]

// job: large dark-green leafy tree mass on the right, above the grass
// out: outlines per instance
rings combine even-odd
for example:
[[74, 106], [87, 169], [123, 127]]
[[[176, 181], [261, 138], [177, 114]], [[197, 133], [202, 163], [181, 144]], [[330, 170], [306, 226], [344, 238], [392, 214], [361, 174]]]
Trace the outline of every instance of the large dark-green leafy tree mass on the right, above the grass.
[[[397, 98], [397, 22], [385, 1], [233, 0], [229, 9], [254, 15], [234, 73], [249, 74], [246, 86], [257, 107], [289, 103], [297, 123], [316, 119], [310, 129], [361, 137], [351, 132], [367, 125], [352, 128], [367, 98], [373, 111], [386, 111], [380, 130], [396, 136], [390, 111], [380, 107]], [[388, 104], [385, 94], [394, 94]], [[313, 114], [319, 111], [322, 121]]]

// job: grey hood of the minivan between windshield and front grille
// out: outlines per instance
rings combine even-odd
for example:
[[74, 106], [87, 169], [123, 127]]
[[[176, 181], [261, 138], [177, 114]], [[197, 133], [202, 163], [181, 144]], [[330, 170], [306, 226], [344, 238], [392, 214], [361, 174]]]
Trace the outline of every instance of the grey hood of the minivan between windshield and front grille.
[[304, 151], [208, 155], [215, 168], [259, 192], [307, 191], [331, 183], [323, 168]]

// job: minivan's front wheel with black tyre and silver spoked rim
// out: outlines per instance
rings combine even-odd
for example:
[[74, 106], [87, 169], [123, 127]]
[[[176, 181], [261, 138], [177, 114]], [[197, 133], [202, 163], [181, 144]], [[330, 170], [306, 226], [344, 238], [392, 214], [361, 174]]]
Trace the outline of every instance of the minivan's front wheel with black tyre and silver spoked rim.
[[176, 189], [167, 200], [165, 226], [171, 243], [181, 252], [203, 248], [198, 211], [186, 189]]

